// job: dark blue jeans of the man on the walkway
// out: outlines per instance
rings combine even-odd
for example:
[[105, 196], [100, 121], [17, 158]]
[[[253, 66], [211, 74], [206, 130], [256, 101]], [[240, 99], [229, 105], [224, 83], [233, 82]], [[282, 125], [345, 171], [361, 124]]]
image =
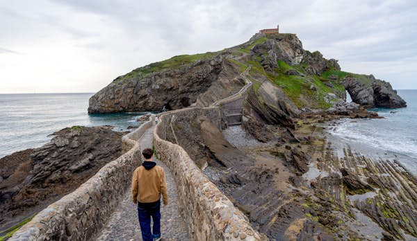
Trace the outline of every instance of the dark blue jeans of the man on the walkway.
[[[161, 237], [161, 202], [138, 203], [138, 217], [143, 241], [152, 241]], [[151, 216], [154, 222], [154, 235], [151, 233]]]

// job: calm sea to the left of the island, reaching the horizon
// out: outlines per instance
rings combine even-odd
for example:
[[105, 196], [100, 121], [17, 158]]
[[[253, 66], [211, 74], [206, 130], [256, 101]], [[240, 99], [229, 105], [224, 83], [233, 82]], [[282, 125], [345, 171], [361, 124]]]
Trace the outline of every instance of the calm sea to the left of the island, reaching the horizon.
[[38, 148], [52, 134], [73, 125], [113, 125], [113, 130], [139, 126], [146, 113], [88, 114], [93, 93], [0, 94], [0, 158], [19, 150]]

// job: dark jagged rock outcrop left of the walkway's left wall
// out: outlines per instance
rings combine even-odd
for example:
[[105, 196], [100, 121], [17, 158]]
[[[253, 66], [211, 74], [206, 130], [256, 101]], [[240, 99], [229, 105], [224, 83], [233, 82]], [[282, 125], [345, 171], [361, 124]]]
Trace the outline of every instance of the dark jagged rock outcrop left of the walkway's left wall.
[[41, 148], [0, 159], [0, 227], [42, 210], [122, 153], [122, 133], [74, 126], [55, 132]]

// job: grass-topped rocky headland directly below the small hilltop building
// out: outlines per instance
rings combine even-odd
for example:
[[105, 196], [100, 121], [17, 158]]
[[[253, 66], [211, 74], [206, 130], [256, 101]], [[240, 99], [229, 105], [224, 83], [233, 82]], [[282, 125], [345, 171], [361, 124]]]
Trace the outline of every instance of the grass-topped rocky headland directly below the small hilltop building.
[[337, 60], [304, 50], [294, 34], [257, 33], [223, 51], [179, 55], [122, 75], [90, 98], [88, 112], [160, 111], [195, 102], [208, 106], [240, 89], [239, 75], [249, 66], [256, 94], [268, 81], [303, 112], [340, 105], [346, 90], [363, 107], [406, 106], [388, 82], [341, 71]]

